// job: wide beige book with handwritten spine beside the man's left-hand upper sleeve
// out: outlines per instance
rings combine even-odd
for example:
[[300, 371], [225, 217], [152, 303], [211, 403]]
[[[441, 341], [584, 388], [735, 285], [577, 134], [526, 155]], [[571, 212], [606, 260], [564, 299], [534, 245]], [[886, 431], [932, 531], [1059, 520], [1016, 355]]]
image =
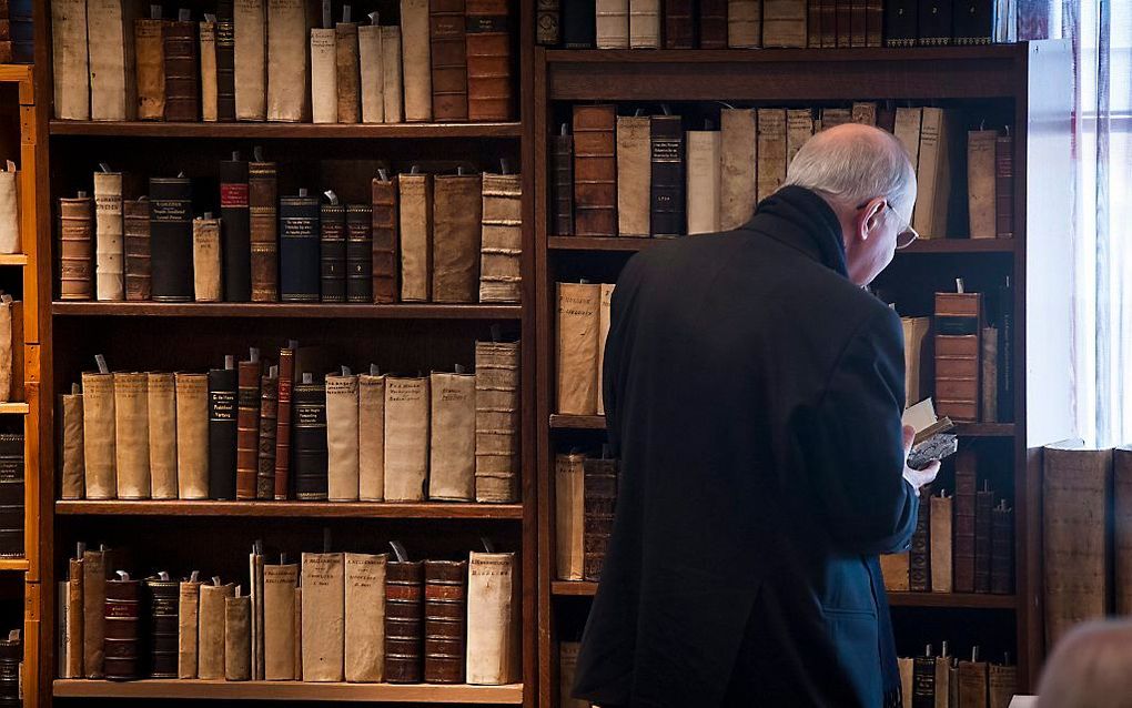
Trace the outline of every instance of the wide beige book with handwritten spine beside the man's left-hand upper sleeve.
[[598, 412], [601, 285], [558, 283], [558, 412]]

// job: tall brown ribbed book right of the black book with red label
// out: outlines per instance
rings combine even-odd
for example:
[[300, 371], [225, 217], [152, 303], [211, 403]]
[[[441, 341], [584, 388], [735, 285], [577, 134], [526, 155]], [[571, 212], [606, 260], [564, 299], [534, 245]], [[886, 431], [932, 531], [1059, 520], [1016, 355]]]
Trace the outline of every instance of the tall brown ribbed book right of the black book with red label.
[[278, 186], [274, 162], [248, 163], [251, 300], [278, 299]]

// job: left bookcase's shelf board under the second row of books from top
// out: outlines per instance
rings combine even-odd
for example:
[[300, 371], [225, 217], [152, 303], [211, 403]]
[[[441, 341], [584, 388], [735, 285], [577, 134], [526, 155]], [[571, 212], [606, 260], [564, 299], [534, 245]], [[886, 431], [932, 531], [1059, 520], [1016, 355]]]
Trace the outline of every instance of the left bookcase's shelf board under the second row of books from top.
[[55, 301], [51, 314], [100, 317], [342, 317], [366, 319], [520, 319], [520, 305], [325, 305], [319, 302]]

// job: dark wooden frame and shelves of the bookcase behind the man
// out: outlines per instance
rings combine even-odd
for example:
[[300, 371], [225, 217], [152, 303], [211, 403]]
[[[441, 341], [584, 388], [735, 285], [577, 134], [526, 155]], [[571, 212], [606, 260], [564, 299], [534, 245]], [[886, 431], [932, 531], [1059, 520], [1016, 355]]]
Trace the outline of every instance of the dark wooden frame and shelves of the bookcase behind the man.
[[[915, 310], [907, 314], [920, 315], [931, 314], [933, 292], [951, 290], [957, 276], [970, 283], [997, 282], [1005, 275], [1013, 281], [1015, 420], [963, 425], [959, 434], [961, 444], [979, 450], [979, 479], [994, 479], [1000, 493], [1013, 498], [1017, 591], [1006, 596], [903, 592], [890, 594], [890, 602], [901, 656], [923, 651], [927, 642], [938, 648], [940, 639], [951, 639], [959, 650], [978, 642], [984, 647], [983, 658], [1001, 660], [1002, 651], [1018, 657], [1019, 690], [1032, 689], [1045, 643], [1038, 453], [1041, 445], [1072, 429], [1067, 377], [1071, 261], [1062, 187], [1069, 174], [1071, 134], [1064, 88], [1071, 85], [1067, 46], [1040, 42], [832, 51], [537, 49], [534, 61], [539, 705], [559, 705], [558, 642], [581, 637], [590, 598], [597, 591], [597, 583], [555, 578], [555, 454], [575, 445], [599, 446], [604, 428], [603, 417], [556, 415], [555, 283], [578, 278], [614, 282], [634, 251], [658, 242], [549, 231], [549, 139], [558, 123], [568, 121], [569, 105], [586, 102], [657, 110], [662, 102], [816, 108], [855, 100], [899, 105], [907, 101], [986, 111], [995, 125], [1010, 126], [1015, 137], [1014, 238], [920, 240], [897, 256], [877, 285], [901, 293], [901, 301]], [[679, 109], [672, 112], [680, 113]], [[954, 488], [949, 481], [952, 474], [950, 463], [941, 472], [941, 481], [951, 485], [950, 489]]]

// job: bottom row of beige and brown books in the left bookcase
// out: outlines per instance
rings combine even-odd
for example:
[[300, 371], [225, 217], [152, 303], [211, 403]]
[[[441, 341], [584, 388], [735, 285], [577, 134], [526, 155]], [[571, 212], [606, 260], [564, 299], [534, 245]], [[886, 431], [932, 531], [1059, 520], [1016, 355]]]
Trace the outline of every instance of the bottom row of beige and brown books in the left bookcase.
[[[249, 555], [246, 586], [220, 577], [111, 573], [115, 552], [82, 547], [59, 583], [65, 679], [514, 683], [514, 553], [458, 561], [303, 553]], [[0, 665], [2, 669], [2, 665]]]

